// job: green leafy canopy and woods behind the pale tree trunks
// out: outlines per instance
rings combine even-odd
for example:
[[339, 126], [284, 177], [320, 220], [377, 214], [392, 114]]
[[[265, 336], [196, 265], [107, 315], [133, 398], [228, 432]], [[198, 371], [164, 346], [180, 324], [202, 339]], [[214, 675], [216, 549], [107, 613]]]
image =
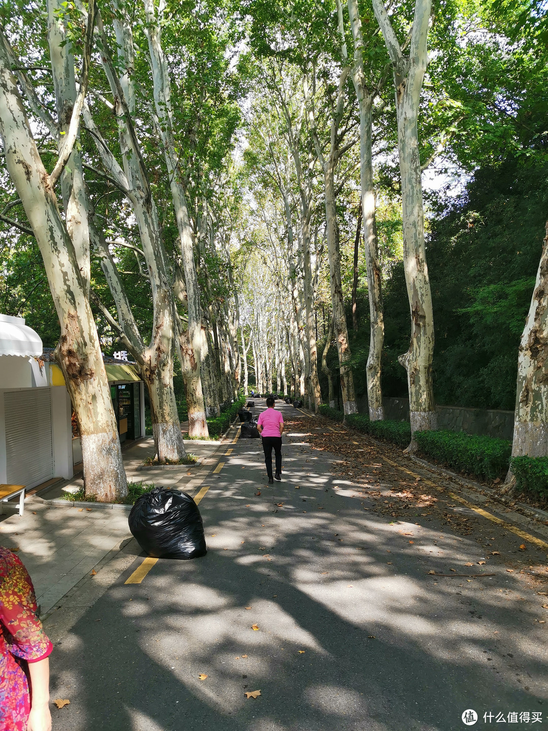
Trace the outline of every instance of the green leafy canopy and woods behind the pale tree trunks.
[[[50, 19], [53, 12], [72, 33], [67, 34], [66, 42], [72, 44], [79, 69], [84, 55], [85, 9], [77, 2], [59, 3], [54, 10], [52, 3], [48, 5]], [[259, 380], [254, 371], [259, 368], [262, 349], [270, 382], [278, 376], [278, 390], [292, 390], [295, 395], [298, 391], [297, 371], [302, 368], [292, 361], [291, 341], [300, 337], [305, 323], [299, 322], [297, 307], [297, 321], [289, 331], [287, 320], [293, 314], [286, 302], [300, 300], [305, 317], [307, 293], [302, 285], [302, 231], [297, 224], [292, 227], [300, 201], [288, 144], [291, 129], [300, 135], [297, 146], [308, 165], [305, 177], [308, 175], [318, 360], [327, 338], [332, 338], [318, 150], [325, 153], [333, 147], [330, 134], [338, 108], [335, 137], [341, 154], [335, 172], [335, 234], [349, 327], [349, 365], [356, 395], [364, 395], [370, 314], [359, 192], [359, 111], [351, 75], [341, 81], [340, 72], [348, 59], [347, 48], [353, 47], [346, 5], [190, 0], [160, 6], [175, 110], [176, 154], [189, 202], [201, 308], [210, 325], [235, 326], [232, 344], [239, 343], [237, 357], [233, 354], [239, 381], [243, 381], [244, 365], [246, 373], [249, 368], [250, 384]], [[135, 128], [159, 211], [163, 245], [172, 269], [177, 270], [182, 264], [177, 253], [178, 224], [170, 206], [170, 175], [148, 99], [152, 72], [146, 57], [145, 12], [138, 2], [99, 4], [99, 10], [107, 33], [117, 14], [134, 22], [130, 76], [134, 80]], [[390, 8], [404, 47], [413, 12], [414, 3], [401, 2]], [[42, 104], [53, 114], [47, 13], [40, 2], [4, 0], [0, 21], [19, 59], [12, 68], [21, 64]], [[395, 99], [386, 49], [373, 6], [367, 1], [359, 3], [359, 17], [365, 29], [367, 72], [376, 89], [373, 171], [384, 300], [382, 393], [405, 397], [406, 372], [397, 358], [408, 348], [409, 305], [402, 263]], [[430, 63], [420, 97], [418, 132], [435, 327], [433, 388], [438, 404], [514, 409], [518, 346], [548, 217], [546, 35], [544, 7], [534, 1], [433, 4]], [[116, 42], [119, 48], [118, 37], [114, 33], [110, 37], [113, 48]], [[91, 56], [89, 106], [95, 124], [118, 154], [121, 143], [112, 103], [105, 99], [101, 53], [99, 45]], [[117, 63], [122, 75], [120, 58]], [[315, 84], [314, 119], [303, 80]], [[43, 159], [53, 167], [56, 146], [48, 148], [47, 131], [34, 124]], [[136, 221], [119, 186], [104, 172], [91, 124], [82, 125], [77, 147], [84, 161], [85, 186], [102, 220], [118, 277], [142, 339], [148, 341], [154, 329], [151, 280], [139, 253]], [[2, 175], [0, 311], [25, 317], [45, 346], [53, 348], [60, 327], [42, 256], [7, 172]], [[94, 292], [91, 308], [103, 352], [111, 355], [126, 349], [115, 327], [116, 302], [102, 254], [96, 249], [90, 281]], [[270, 363], [265, 364], [265, 357]], [[335, 348], [327, 354], [327, 367], [332, 372], [338, 369]], [[175, 368], [174, 384], [179, 416], [184, 418], [186, 400], [179, 373], [180, 366]], [[281, 382], [286, 379], [289, 385], [283, 389]], [[327, 401], [323, 372], [319, 380], [322, 398]], [[335, 386], [340, 392], [338, 379]], [[338, 398], [340, 404], [340, 393]]]

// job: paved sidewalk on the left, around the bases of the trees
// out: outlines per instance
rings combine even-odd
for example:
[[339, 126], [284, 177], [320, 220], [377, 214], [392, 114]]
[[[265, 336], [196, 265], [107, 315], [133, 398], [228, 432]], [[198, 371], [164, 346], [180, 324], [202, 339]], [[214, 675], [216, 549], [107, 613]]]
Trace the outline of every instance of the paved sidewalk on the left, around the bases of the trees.
[[[146, 457], [153, 455], [152, 437], [141, 439], [122, 452], [129, 482], [153, 482], [192, 493], [216, 464], [216, 452], [235, 436], [232, 426], [225, 442], [186, 440], [187, 452], [199, 457], [196, 466], [175, 469], [137, 469]], [[4, 503], [0, 515], [0, 544], [16, 550], [28, 569], [37, 594], [42, 616], [62, 605], [63, 597], [83, 577], [90, 575], [105, 558], [111, 560], [132, 538], [127, 518], [131, 506], [107, 506], [96, 503], [61, 501], [62, 488], [83, 488], [82, 475], [57, 482], [42, 495], [25, 500], [23, 517], [16, 503]]]

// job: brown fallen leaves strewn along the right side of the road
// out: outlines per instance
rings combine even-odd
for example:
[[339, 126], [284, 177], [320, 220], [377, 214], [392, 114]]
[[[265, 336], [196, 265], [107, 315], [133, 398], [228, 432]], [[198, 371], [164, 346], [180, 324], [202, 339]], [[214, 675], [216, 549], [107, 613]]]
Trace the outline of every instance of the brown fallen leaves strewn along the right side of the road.
[[[305, 425], [307, 428], [304, 433]], [[413, 463], [402, 463], [401, 451], [392, 444], [379, 445], [369, 436], [330, 423], [324, 417], [310, 417], [306, 422], [300, 419], [286, 420], [286, 429], [300, 432], [302, 440], [308, 442], [308, 449], [300, 450], [303, 455], [318, 450], [335, 456], [331, 462], [332, 474], [341, 481], [351, 482], [351, 496], [360, 499], [362, 509], [370, 515], [386, 517], [390, 523], [405, 520], [420, 523], [435, 531], [449, 530], [452, 534], [472, 536], [479, 543], [482, 560], [468, 565], [482, 572], [490, 568], [486, 565], [490, 560], [497, 561], [498, 565], [510, 565], [514, 569], [521, 569], [522, 573], [528, 573], [528, 580], [536, 588], [548, 580], [546, 562], [539, 564], [541, 558], [540, 555], [537, 558], [533, 546], [530, 546], [528, 556], [523, 558], [508, 555], [498, 558], [501, 552], [492, 550], [498, 548], [497, 539], [510, 538], [514, 542], [517, 537], [464, 508], [462, 504], [455, 504], [443, 485], [432, 484], [437, 482], [434, 475], [421, 477]], [[399, 469], [397, 464], [403, 469]], [[334, 486], [333, 489], [347, 491], [349, 485]], [[457, 490], [457, 486], [452, 485], [451, 491]], [[413, 542], [409, 540], [409, 543]], [[527, 553], [527, 547], [522, 546], [525, 545], [520, 545], [518, 554]], [[536, 566], [531, 566], [531, 562], [536, 563]], [[476, 572], [470, 569], [470, 575], [473, 574]]]

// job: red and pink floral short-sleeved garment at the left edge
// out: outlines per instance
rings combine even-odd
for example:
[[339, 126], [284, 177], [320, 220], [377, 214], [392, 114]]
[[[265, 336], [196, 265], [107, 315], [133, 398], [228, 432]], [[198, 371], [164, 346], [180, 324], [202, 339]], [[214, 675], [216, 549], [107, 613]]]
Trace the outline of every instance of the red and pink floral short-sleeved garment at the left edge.
[[0, 546], [0, 731], [26, 731], [27, 663], [52, 649], [37, 616], [31, 577], [20, 558]]

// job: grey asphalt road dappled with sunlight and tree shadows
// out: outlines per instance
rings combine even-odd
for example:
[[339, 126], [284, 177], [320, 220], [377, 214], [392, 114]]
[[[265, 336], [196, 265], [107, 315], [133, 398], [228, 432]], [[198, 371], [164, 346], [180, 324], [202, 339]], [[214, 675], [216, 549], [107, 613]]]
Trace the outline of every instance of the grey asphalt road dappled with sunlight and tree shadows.
[[[300, 418], [283, 482], [266, 484], [259, 440], [228, 444], [199, 504], [208, 555], [126, 585], [143, 560], [130, 545], [110, 588], [67, 618], [52, 698], [70, 704], [53, 708], [54, 731], [452, 731], [466, 709], [476, 728], [501, 713], [548, 723], [548, 596], [503, 564], [429, 575], [484, 571], [484, 548], [437, 519], [364, 510], [336, 456], [310, 449], [308, 417], [281, 408]], [[514, 547], [485, 524], [501, 553]]]

